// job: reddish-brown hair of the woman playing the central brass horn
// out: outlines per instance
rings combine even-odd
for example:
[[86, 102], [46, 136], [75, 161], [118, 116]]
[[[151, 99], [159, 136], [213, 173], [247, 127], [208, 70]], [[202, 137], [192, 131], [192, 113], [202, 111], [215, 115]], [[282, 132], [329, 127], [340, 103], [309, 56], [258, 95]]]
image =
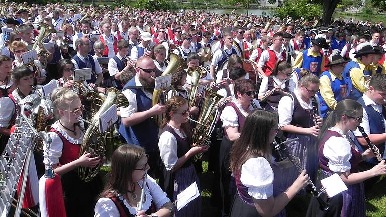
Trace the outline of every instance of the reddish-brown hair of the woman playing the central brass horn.
[[[181, 96], [173, 96], [166, 102], [166, 112], [165, 112], [165, 117], [163, 118], [163, 122], [161, 125], [161, 128], [165, 127], [167, 123], [171, 120], [171, 116], [169, 112], [175, 112], [180, 108], [182, 105], [187, 104], [187, 100]], [[184, 131], [184, 133], [191, 138], [192, 133], [191, 129], [189, 126], [189, 122], [182, 123], [181, 128]]]

